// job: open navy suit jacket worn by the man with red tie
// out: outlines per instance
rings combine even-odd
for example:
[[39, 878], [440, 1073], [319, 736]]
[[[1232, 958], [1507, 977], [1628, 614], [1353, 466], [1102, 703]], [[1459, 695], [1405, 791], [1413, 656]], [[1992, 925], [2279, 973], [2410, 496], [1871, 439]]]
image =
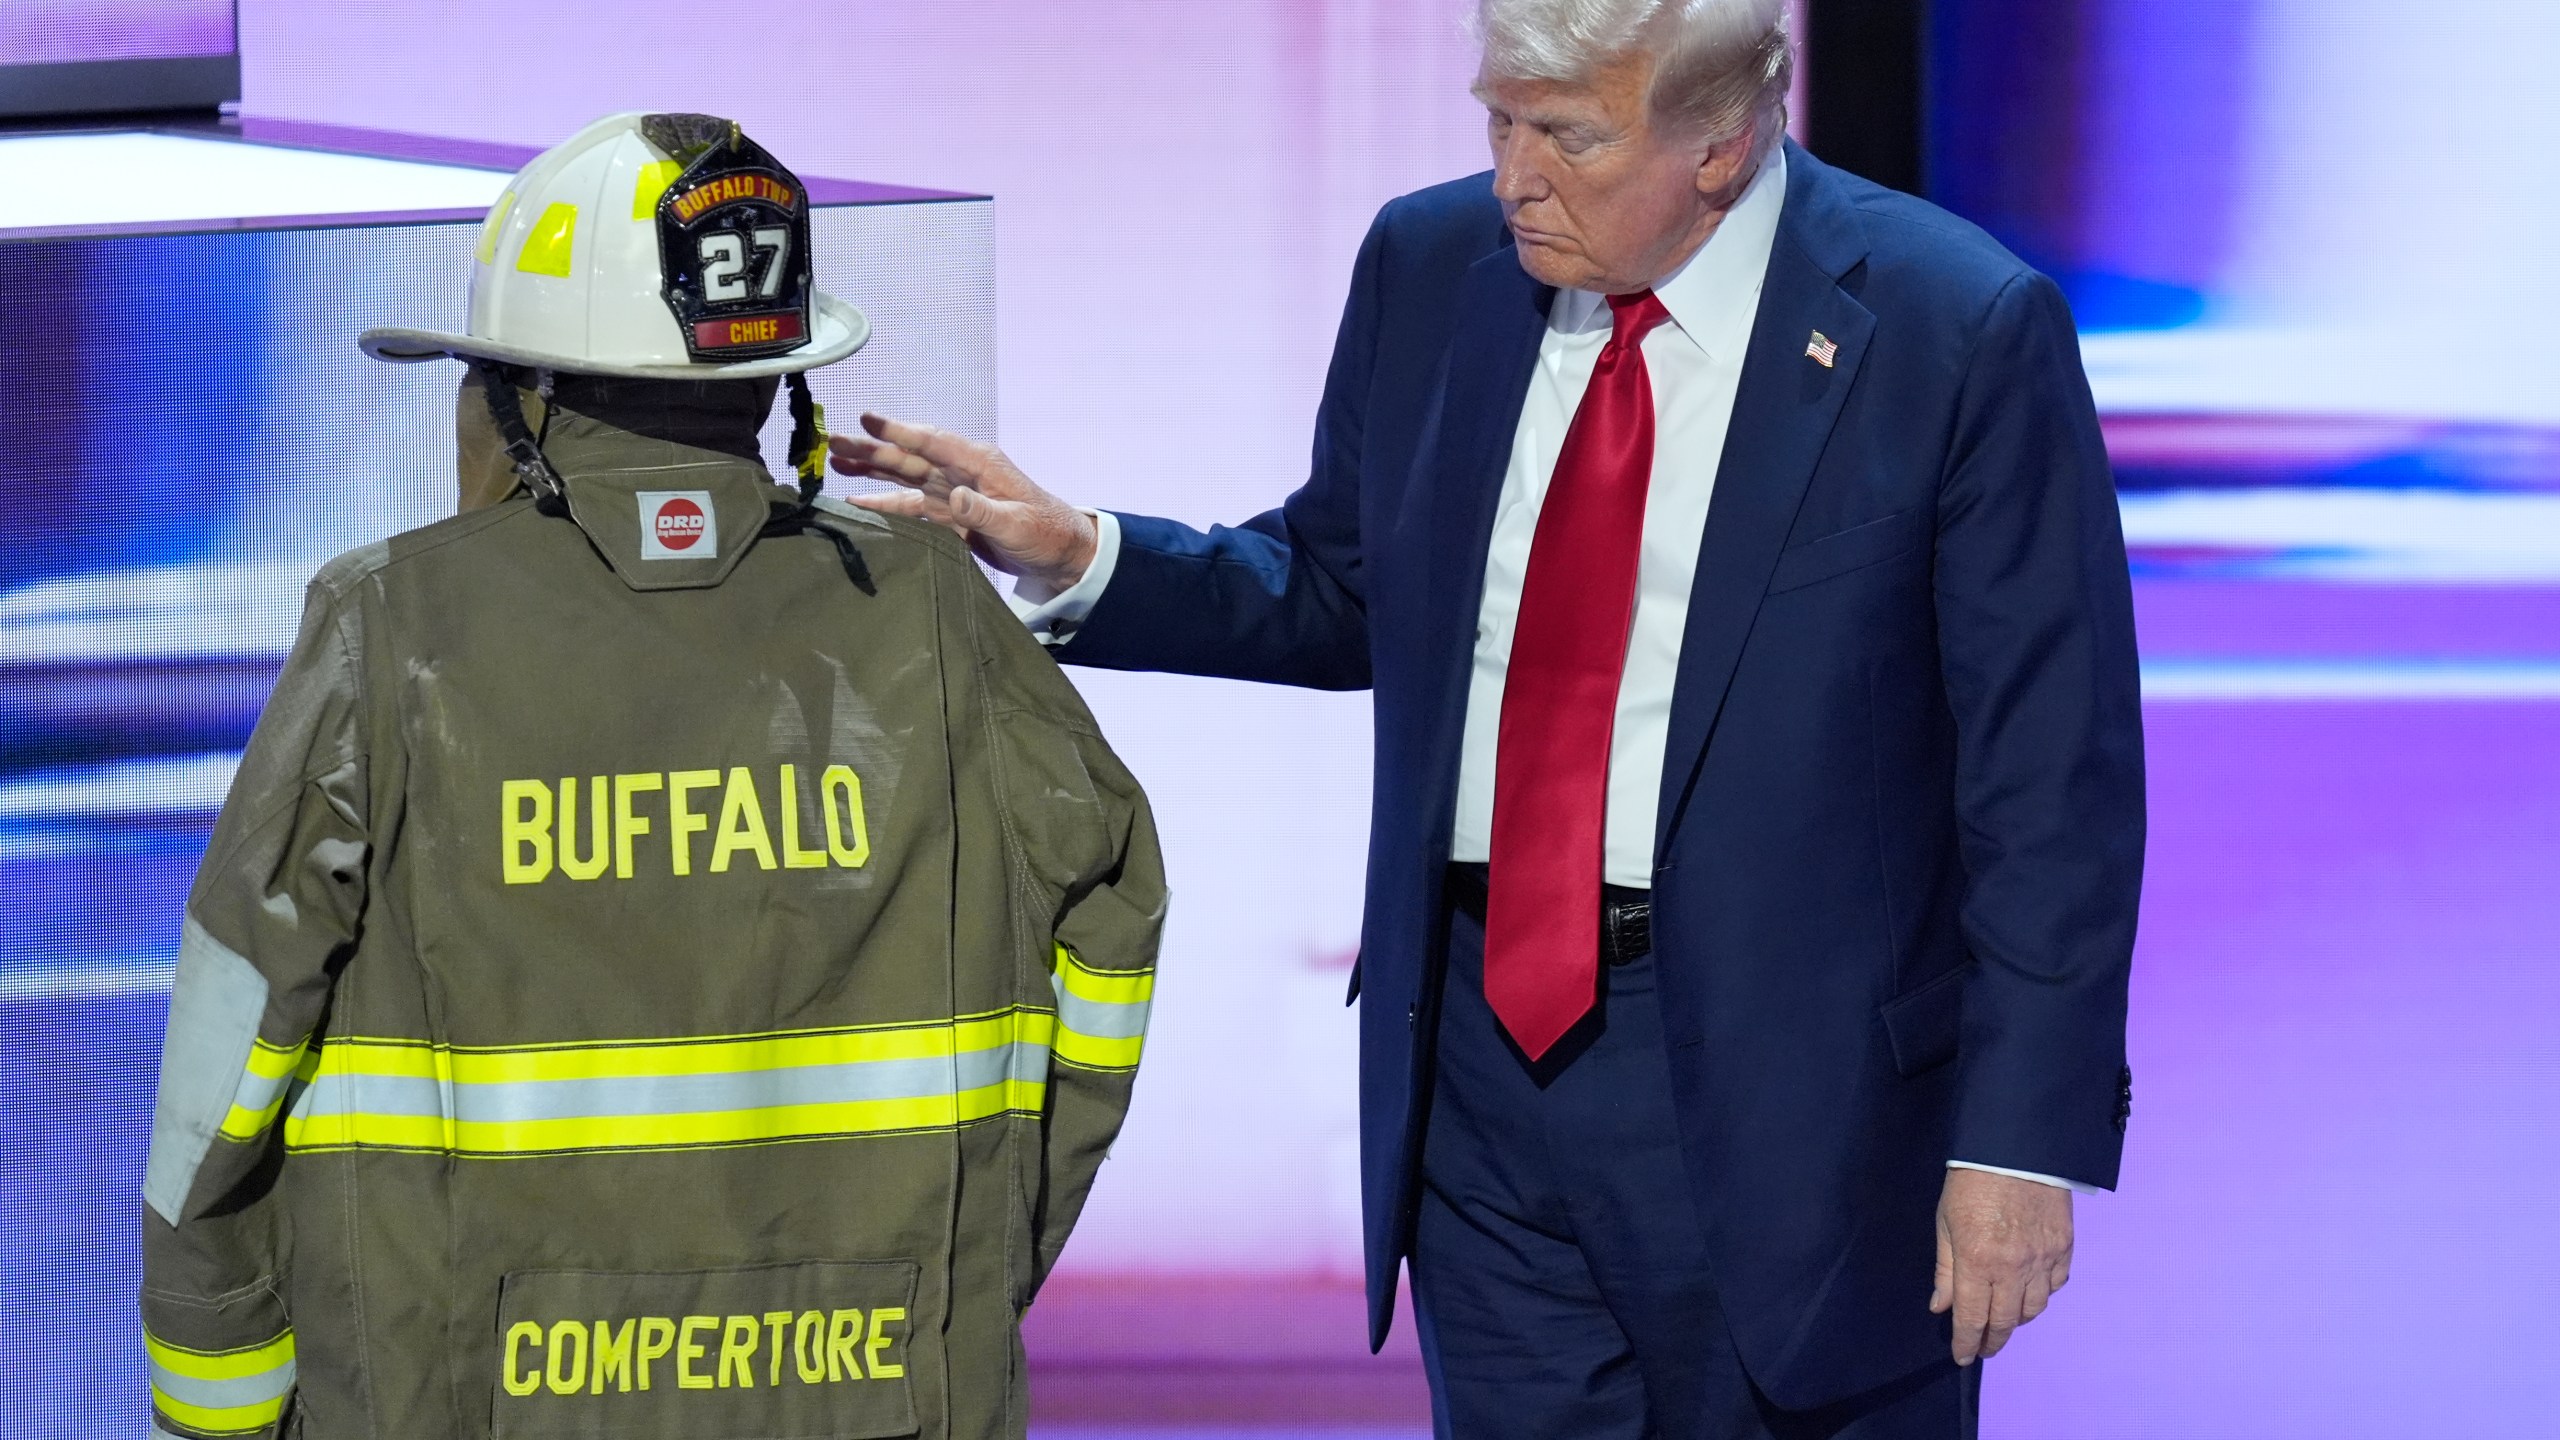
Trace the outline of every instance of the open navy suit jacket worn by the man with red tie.
[[[1372, 1343], [1416, 1207], [1485, 546], [1551, 295], [1490, 177], [1390, 202], [1306, 487], [1239, 528], [1124, 515], [1119, 569], [1060, 648], [1375, 689], [1352, 981]], [[1815, 331], [1833, 366], [1805, 354]], [[1656, 846], [1700, 1197], [1661, 1222], [1705, 1225], [1779, 1404], [1943, 1361], [1925, 1307], [1948, 1158], [2117, 1174], [2132, 597], [2061, 292], [1800, 149], [1697, 556]]]

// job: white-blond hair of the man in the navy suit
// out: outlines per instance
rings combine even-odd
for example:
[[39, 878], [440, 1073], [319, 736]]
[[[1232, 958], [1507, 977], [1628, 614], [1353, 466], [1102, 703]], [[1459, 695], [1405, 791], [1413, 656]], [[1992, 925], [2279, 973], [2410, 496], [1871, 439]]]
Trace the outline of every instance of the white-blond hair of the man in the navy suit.
[[1787, 133], [1787, 0], [1477, 0], [1485, 74], [1580, 85], [1631, 51], [1654, 56], [1654, 120], [1710, 146]]

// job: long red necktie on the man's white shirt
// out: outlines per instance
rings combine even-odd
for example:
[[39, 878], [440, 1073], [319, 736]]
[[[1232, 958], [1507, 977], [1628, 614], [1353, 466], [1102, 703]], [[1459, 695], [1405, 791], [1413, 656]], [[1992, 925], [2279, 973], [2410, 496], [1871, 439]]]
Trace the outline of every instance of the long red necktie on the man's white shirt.
[[1562, 1040], [1600, 989], [1608, 743], [1654, 477], [1644, 336], [1672, 318], [1651, 290], [1608, 305], [1610, 338], [1528, 546], [1492, 766], [1485, 999], [1528, 1058]]

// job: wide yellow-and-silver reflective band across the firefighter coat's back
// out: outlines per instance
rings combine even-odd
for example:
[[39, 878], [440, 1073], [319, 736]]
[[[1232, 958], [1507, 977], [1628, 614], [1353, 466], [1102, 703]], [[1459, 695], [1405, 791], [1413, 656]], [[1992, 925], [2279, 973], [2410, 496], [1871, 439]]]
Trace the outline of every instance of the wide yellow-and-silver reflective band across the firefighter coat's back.
[[294, 1150], [466, 1158], [771, 1145], [950, 1130], [1047, 1102], [1047, 1010], [927, 1025], [463, 1048], [320, 1045], [284, 1117]]

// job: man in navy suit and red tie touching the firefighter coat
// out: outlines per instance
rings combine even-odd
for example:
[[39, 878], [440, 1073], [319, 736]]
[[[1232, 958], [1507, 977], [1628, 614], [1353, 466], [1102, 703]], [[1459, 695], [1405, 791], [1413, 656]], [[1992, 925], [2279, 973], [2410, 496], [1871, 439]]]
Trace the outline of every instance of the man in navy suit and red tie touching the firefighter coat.
[[1377, 215], [1242, 528], [835, 446], [1062, 661], [1375, 692], [1372, 1343], [1408, 1261], [1441, 1435], [1971, 1435], [2117, 1176], [2140, 692], [2071, 315], [1782, 143], [1779, 10], [1480, 0], [1495, 169]]

